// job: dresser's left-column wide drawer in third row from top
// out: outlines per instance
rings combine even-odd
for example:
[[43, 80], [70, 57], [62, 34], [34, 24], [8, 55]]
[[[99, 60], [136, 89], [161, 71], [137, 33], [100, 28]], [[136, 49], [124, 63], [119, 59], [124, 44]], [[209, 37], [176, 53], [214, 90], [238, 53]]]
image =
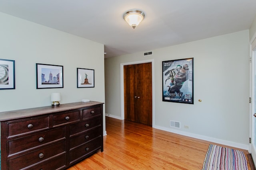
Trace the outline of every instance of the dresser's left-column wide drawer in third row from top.
[[8, 160], [9, 169], [20, 170], [61, 153], [65, 153], [65, 142], [12, 158]]

